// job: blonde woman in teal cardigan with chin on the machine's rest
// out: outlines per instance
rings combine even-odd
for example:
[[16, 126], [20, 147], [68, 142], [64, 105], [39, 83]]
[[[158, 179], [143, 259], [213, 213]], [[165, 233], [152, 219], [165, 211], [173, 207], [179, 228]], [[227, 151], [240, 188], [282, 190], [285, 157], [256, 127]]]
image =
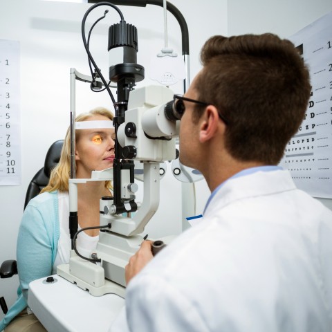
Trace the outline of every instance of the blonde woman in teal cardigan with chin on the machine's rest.
[[[113, 115], [102, 107], [82, 113], [79, 121], [112, 121]], [[93, 170], [113, 165], [114, 129], [80, 129], [75, 132], [76, 178], [91, 178]], [[48, 185], [24, 210], [17, 239], [17, 268], [20, 286], [17, 301], [0, 322], [0, 331], [46, 331], [27, 305], [28, 285], [35, 279], [53, 275], [59, 264], [69, 262], [71, 238], [68, 228], [68, 179], [70, 176], [70, 131], [68, 129], [58, 165]], [[99, 200], [112, 196], [110, 181], [77, 185], [79, 228], [99, 225]], [[98, 242], [98, 229], [80, 232], [76, 247], [89, 256]], [[9, 325], [8, 325], [9, 324]], [[29, 326], [29, 327], [28, 327]]]

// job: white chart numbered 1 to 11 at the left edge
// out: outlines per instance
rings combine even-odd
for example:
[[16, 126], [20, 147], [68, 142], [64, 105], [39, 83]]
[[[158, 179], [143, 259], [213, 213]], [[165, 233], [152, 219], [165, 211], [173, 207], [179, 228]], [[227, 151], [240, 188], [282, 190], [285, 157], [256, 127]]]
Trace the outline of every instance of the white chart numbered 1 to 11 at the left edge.
[[0, 185], [21, 184], [19, 42], [0, 39]]

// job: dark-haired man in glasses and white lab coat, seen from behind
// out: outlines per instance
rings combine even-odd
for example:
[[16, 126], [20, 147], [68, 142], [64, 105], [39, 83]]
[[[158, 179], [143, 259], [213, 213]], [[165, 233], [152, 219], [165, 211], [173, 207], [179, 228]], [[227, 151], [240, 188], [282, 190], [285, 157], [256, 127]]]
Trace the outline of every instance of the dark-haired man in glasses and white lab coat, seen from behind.
[[278, 167], [304, 119], [308, 69], [276, 35], [214, 36], [184, 98], [181, 163], [212, 192], [203, 218], [126, 268], [109, 331], [331, 331], [332, 212]]

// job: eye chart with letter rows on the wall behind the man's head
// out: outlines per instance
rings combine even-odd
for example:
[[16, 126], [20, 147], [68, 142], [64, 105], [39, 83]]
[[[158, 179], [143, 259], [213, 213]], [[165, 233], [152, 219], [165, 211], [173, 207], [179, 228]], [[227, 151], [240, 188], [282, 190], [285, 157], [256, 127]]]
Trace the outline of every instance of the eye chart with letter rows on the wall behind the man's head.
[[311, 76], [311, 97], [299, 131], [280, 166], [299, 189], [332, 199], [332, 12], [289, 37]]

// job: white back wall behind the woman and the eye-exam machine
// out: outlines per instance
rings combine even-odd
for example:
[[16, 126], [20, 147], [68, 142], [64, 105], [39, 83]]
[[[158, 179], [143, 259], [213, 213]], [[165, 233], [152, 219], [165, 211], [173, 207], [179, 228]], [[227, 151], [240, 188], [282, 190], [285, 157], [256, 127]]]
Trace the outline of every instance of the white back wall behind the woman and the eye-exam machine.
[[[199, 49], [208, 37], [227, 33], [226, 0], [210, 0], [211, 13], [202, 10], [201, 1], [171, 1], [185, 17], [190, 31], [191, 77], [201, 68]], [[26, 189], [33, 175], [44, 165], [46, 151], [52, 142], [64, 138], [69, 125], [69, 68], [89, 74], [82, 43], [81, 22], [88, 3], [62, 3], [38, 0], [0, 0], [0, 39], [19, 40], [21, 44], [21, 156], [22, 184], [0, 186], [0, 262], [15, 259], [16, 241], [23, 213]], [[107, 77], [107, 31], [120, 18], [111, 8], [98, 8], [91, 13], [89, 23], [109, 9], [107, 19], [100, 22], [91, 36], [91, 51]], [[120, 9], [127, 23], [138, 28], [138, 64], [145, 66], [149, 80], [149, 61], [164, 46], [163, 10], [158, 6]], [[199, 15], [199, 18], [198, 18]], [[181, 54], [181, 30], [172, 15], [167, 15], [168, 44]], [[89, 28], [86, 28], [89, 30]], [[183, 93], [177, 84], [174, 93]], [[106, 93], [92, 93], [89, 84], [77, 82], [76, 113], [96, 106], [111, 107]], [[147, 226], [150, 237], [160, 237], [181, 230], [181, 183], [167, 172], [161, 181], [160, 210]], [[197, 185], [198, 209], [208, 198], [208, 187]], [[201, 211], [200, 211], [201, 212]], [[37, 257], [36, 257], [37, 259]], [[15, 301], [17, 276], [1, 279], [0, 296], [8, 306]], [[0, 319], [3, 314], [0, 313]]]

